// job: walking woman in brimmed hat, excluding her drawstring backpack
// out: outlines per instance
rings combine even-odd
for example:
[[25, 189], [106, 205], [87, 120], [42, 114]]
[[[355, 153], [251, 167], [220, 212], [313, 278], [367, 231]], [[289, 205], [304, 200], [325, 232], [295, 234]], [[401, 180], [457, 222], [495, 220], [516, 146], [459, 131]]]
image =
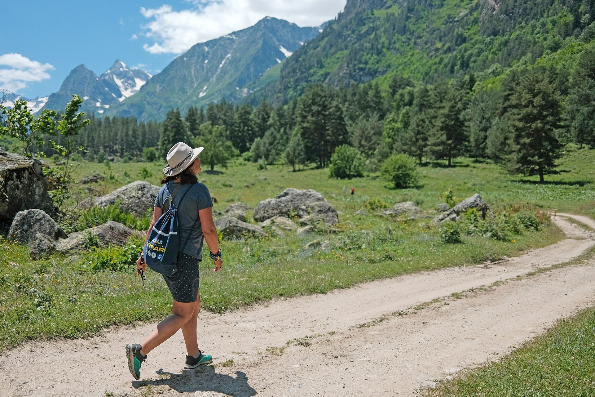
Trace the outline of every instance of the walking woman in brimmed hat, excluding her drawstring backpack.
[[[220, 271], [221, 249], [217, 230], [213, 222], [211, 194], [205, 185], [198, 183], [196, 176], [201, 172], [201, 159], [198, 157], [203, 148], [190, 148], [186, 143], [178, 142], [167, 154], [167, 163], [163, 172], [163, 185], [155, 199], [153, 218], [147, 232], [147, 239], [156, 221], [161, 217], [164, 204], [176, 187], [180, 186], [180, 194], [176, 194], [171, 207], [178, 211], [178, 232], [180, 234], [180, 252], [176, 264], [177, 271], [172, 276], [163, 276], [173, 297], [171, 315], [162, 320], [153, 332], [142, 343], [126, 344], [128, 367], [134, 379], [140, 377], [140, 364], [146, 355], [165, 340], [169, 339], [181, 328], [186, 343], [185, 369], [212, 362], [210, 355], [205, 355], [198, 347], [196, 337], [196, 321], [201, 296], [199, 293], [198, 262], [202, 260], [203, 238], [214, 260], [214, 271]], [[186, 193], [184, 195], [184, 193]], [[183, 200], [180, 201], [180, 198]], [[146, 243], [146, 241], [145, 241]], [[183, 249], [182, 249], [183, 248]], [[146, 263], [143, 254], [136, 261], [136, 273], [145, 271]]]

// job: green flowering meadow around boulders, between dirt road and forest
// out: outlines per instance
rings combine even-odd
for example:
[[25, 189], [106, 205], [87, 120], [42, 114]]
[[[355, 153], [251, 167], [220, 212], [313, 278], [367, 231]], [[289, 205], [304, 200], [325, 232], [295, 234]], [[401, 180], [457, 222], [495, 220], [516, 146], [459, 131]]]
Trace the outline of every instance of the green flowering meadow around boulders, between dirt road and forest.
[[[201, 262], [202, 307], [224, 312], [384, 277], [497, 260], [549, 245], [563, 235], [547, 222], [539, 232], [511, 231], [501, 239], [461, 235], [459, 242], [445, 243], [441, 227], [431, 226], [427, 220], [391, 219], [374, 213], [381, 210], [379, 203], [392, 206], [414, 201], [427, 214], [435, 214], [434, 208], [443, 202], [442, 193], [450, 188], [457, 201], [480, 193], [497, 212], [537, 211], [543, 215], [557, 210], [595, 215], [595, 151], [569, 148], [560, 164], [565, 172], [549, 176], [546, 180], [550, 183], [539, 185], [536, 177], [511, 177], [491, 162], [459, 158], [455, 167], [432, 162], [420, 168], [421, 186], [406, 190], [394, 189], [374, 173], [336, 180], [328, 177], [327, 169], [292, 172], [287, 165], [270, 165], [267, 170], [257, 170], [255, 164], [240, 159], [227, 169], [216, 168], [215, 173], [203, 171], [199, 180], [217, 198], [216, 210], [223, 211], [237, 201], [255, 207], [287, 187], [296, 187], [322, 193], [339, 211], [340, 223], [339, 232], [318, 224], [311, 235], [285, 232], [277, 236], [268, 230], [270, 236], [265, 238], [223, 240], [223, 271], [215, 274], [209, 271], [211, 261]], [[76, 164], [74, 179], [102, 174], [105, 180], [75, 184], [69, 205], [87, 198], [89, 188], [94, 189], [91, 194], [103, 195], [135, 180], [159, 185], [162, 167], [136, 162]], [[347, 187], [345, 195], [343, 186]], [[353, 196], [349, 195], [352, 186]], [[368, 215], [354, 214], [361, 208]], [[73, 222], [83, 219], [83, 213], [70, 215], [65, 226], [80, 230], [81, 225]], [[84, 215], [87, 223], [105, 221], [96, 217], [93, 222], [95, 215]], [[135, 222], [139, 227], [146, 219]], [[304, 248], [317, 239], [327, 241], [328, 248]], [[137, 240], [124, 248], [91, 248], [92, 252], [54, 254], [32, 261], [27, 246], [5, 237], [0, 242], [4, 251], [0, 257], [0, 351], [27, 340], [95, 335], [114, 324], [150, 321], [169, 314], [171, 295], [161, 276], [148, 271], [143, 286], [133, 273], [131, 259], [140, 252], [141, 244]]]

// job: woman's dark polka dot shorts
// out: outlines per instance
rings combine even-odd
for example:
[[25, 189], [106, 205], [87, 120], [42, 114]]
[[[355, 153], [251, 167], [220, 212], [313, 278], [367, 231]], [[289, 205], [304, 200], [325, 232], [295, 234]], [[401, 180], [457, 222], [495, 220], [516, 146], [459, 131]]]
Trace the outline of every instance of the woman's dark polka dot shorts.
[[180, 252], [177, 269], [172, 276], [163, 276], [171, 296], [178, 302], [196, 302], [200, 282], [198, 259]]

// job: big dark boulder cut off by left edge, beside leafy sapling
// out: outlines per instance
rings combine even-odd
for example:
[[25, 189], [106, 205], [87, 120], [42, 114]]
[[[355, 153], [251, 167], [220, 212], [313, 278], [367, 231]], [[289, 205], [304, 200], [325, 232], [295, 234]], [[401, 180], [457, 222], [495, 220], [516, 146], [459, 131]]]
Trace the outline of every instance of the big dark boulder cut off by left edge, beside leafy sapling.
[[42, 169], [39, 160], [0, 149], [0, 222], [10, 223], [18, 211], [32, 208], [54, 213], [49, 182]]

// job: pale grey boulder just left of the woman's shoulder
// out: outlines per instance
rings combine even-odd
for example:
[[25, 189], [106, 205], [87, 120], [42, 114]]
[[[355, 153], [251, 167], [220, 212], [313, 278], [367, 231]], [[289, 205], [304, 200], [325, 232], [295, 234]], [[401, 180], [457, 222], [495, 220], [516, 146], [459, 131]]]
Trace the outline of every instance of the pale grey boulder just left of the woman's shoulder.
[[153, 208], [159, 189], [159, 186], [151, 185], [151, 183], [143, 180], [137, 180], [105, 196], [96, 198], [93, 201], [93, 205], [107, 207], [109, 204], [119, 202], [120, 210], [142, 216], [146, 210]]

